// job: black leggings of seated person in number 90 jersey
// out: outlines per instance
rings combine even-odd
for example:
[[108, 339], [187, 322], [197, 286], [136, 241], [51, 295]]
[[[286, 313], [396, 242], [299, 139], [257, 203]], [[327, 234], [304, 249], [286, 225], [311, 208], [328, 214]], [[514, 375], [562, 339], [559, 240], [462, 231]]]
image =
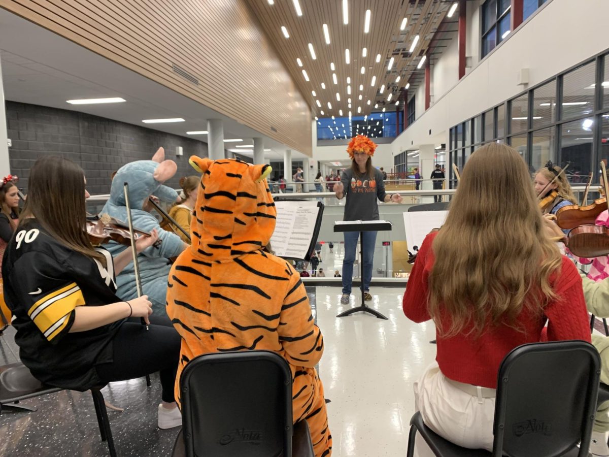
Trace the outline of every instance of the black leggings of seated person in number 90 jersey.
[[181, 339], [173, 327], [125, 322], [112, 340], [113, 361], [96, 366], [102, 382], [125, 381], [159, 372], [163, 401], [175, 402], [175, 375]]

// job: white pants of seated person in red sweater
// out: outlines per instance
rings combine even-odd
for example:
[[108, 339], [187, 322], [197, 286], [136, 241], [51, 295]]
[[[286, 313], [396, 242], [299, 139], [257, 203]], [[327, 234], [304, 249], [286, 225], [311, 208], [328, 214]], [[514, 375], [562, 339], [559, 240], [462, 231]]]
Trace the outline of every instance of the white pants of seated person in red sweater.
[[[437, 363], [414, 383], [414, 391], [415, 408], [435, 433], [462, 447], [493, 450], [494, 397], [463, 392], [447, 380]], [[415, 444], [418, 457], [434, 456], [419, 434]]]

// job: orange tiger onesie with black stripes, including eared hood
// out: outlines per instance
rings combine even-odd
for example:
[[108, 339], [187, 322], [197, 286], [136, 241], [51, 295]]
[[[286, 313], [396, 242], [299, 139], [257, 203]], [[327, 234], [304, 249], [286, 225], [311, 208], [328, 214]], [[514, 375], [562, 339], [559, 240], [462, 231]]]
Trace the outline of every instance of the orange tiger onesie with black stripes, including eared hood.
[[266, 181], [269, 165], [192, 156], [201, 172], [191, 221], [191, 247], [169, 272], [167, 315], [182, 338], [181, 370], [209, 352], [270, 350], [292, 370], [294, 423], [306, 419], [316, 457], [332, 452], [332, 436], [315, 364], [323, 337], [298, 272], [264, 252], [276, 210]]

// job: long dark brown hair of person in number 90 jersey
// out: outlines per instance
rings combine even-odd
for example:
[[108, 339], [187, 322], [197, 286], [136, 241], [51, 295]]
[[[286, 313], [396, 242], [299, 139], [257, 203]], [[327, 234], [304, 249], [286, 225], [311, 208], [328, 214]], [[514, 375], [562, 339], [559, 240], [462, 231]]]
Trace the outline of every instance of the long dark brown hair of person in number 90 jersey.
[[93, 249], [86, 235], [85, 173], [76, 163], [52, 155], [34, 163], [19, 226], [29, 218], [35, 218], [60, 243], [105, 266], [105, 257]]

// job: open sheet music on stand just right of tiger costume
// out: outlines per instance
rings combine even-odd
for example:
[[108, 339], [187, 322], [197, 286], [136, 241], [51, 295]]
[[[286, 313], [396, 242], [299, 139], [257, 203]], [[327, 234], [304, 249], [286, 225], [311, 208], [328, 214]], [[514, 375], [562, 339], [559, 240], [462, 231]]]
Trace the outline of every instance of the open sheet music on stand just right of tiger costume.
[[275, 202], [277, 221], [270, 243], [278, 257], [304, 259], [311, 246], [317, 202]]

